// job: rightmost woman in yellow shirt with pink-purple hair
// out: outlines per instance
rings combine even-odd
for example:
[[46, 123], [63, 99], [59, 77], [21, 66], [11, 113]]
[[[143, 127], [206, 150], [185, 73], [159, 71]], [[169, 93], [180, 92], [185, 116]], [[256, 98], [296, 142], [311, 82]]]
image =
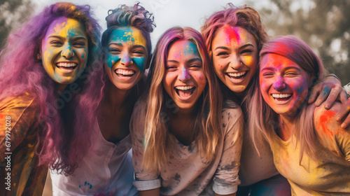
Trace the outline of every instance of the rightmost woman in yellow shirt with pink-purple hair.
[[249, 118], [255, 144], [269, 141], [292, 195], [349, 195], [350, 128], [335, 120], [342, 104], [330, 110], [307, 104], [310, 88], [326, 74], [321, 60], [294, 36], [266, 43], [260, 59]]

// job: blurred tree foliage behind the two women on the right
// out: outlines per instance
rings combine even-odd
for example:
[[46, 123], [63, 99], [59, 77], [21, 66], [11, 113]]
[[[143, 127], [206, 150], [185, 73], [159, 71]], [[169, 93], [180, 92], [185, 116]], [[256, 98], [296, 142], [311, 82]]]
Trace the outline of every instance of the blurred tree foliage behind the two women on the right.
[[[343, 85], [350, 82], [350, 1], [270, 0], [258, 12], [270, 36], [293, 34], [313, 48]], [[254, 3], [252, 3], [254, 5]]]

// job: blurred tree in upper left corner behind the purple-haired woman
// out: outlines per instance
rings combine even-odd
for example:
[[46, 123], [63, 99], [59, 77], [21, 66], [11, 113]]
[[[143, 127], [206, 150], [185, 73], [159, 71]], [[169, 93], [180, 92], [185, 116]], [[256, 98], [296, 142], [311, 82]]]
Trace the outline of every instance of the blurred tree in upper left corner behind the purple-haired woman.
[[0, 50], [10, 30], [20, 27], [33, 12], [34, 4], [30, 0], [0, 0]]

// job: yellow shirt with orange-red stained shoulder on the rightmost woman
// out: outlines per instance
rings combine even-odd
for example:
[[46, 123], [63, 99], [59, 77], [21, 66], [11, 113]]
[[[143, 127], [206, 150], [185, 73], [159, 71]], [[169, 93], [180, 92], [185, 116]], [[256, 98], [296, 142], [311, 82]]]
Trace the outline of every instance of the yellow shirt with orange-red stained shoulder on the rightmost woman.
[[300, 162], [300, 143], [295, 135], [281, 144], [274, 142], [274, 164], [286, 177], [292, 195], [350, 195], [350, 131], [343, 130], [335, 120], [335, 111], [316, 108], [316, 159], [306, 153]]

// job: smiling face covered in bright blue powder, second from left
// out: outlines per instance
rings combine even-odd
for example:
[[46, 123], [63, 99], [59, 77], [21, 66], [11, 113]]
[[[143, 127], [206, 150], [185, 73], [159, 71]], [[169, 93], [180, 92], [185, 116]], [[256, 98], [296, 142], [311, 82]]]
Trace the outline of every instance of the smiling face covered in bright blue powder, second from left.
[[120, 90], [130, 90], [141, 80], [146, 69], [146, 38], [136, 27], [119, 27], [112, 31], [104, 66], [109, 80]]

